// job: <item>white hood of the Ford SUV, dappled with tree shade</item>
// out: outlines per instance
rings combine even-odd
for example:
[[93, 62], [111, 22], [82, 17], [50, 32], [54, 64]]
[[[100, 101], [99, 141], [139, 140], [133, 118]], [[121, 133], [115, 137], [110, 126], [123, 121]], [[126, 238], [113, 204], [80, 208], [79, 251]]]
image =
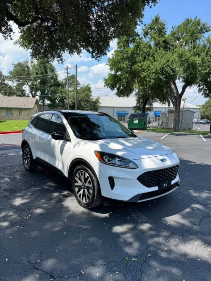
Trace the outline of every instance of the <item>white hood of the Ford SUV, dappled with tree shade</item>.
[[112, 138], [105, 140], [81, 140], [82, 145], [92, 150], [99, 150], [126, 157], [130, 160], [143, 159], [174, 153], [174, 151], [154, 140], [137, 136], [136, 138]]

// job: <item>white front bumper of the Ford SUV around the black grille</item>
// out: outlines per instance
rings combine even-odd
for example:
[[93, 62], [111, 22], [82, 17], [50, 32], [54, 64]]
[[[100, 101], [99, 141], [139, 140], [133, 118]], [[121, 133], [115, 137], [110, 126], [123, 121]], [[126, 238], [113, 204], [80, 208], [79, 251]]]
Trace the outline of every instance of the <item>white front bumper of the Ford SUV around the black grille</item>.
[[[161, 158], [166, 158], [166, 162], [161, 162]], [[171, 181], [169, 190], [163, 189], [162, 192], [159, 191], [158, 186], [149, 188], [137, 180], [137, 177], [145, 172], [179, 165], [176, 153], [133, 161], [138, 165], [137, 169], [114, 167], [103, 163], [99, 163], [95, 167], [103, 197], [125, 202], [141, 202], [163, 196], [178, 187], [180, 180], [178, 174]], [[115, 186], [113, 190], [110, 188], [108, 177], [113, 177], [114, 179]]]

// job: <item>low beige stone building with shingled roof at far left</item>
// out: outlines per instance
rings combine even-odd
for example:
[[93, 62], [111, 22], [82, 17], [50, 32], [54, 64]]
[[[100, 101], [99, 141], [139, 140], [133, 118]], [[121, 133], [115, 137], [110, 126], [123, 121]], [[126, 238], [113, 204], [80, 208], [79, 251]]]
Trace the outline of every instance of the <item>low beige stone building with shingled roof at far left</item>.
[[0, 120], [28, 120], [39, 108], [35, 97], [0, 97]]

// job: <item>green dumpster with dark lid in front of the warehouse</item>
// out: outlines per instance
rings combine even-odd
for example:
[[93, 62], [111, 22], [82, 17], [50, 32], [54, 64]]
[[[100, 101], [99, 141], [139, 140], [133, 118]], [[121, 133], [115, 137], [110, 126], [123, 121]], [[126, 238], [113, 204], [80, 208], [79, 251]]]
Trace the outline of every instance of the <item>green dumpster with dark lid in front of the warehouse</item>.
[[147, 130], [147, 114], [131, 113], [128, 118], [128, 129]]

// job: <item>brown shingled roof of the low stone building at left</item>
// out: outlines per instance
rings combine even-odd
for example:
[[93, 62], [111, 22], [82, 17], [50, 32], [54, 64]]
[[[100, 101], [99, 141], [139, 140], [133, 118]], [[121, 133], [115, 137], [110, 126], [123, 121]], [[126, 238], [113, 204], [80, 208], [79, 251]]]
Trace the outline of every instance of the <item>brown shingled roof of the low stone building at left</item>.
[[33, 108], [40, 104], [36, 97], [0, 97], [0, 108]]

